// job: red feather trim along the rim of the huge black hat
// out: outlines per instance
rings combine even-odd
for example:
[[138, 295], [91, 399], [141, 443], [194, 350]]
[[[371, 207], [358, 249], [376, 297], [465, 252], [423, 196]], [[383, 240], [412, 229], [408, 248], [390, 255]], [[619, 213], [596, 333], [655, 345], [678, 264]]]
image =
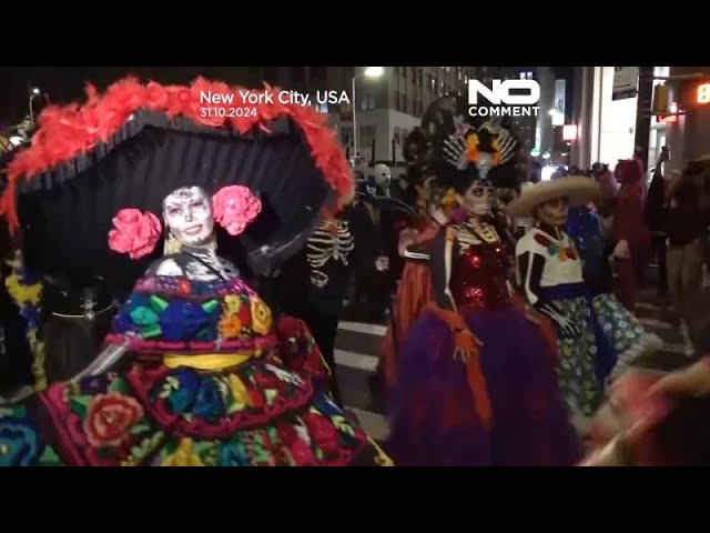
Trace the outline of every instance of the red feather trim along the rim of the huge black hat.
[[[231, 88], [226, 83], [209, 81], [197, 78], [190, 87], [162, 86], [154, 81], [142, 84], [135, 78], [125, 78], [110, 86], [103, 94], [87, 84], [87, 102], [83, 105], [71, 103], [45, 108], [39, 118], [39, 129], [32, 137], [31, 147], [19, 153], [8, 168], [8, 187], [0, 199], [0, 215], [8, 219], [11, 231], [19, 227], [16, 211], [17, 181], [23, 177], [31, 180], [64, 161], [85, 153], [100, 142], [105, 142], [115, 133], [131, 113], [148, 109], [164, 112], [168, 117], [185, 117], [195, 123], [214, 127], [232, 128], [245, 133], [254, 127], [268, 131], [265, 122], [291, 117], [297, 123], [311, 148], [316, 167], [321, 170], [325, 181], [337, 193], [337, 205], [342, 208], [348, 203], [354, 194], [354, 180], [349, 164], [337, 137], [326, 123], [325, 115], [307, 105], [281, 103], [278, 88], [265, 84], [263, 91], [252, 93], [273, 93], [273, 102], [250, 104], [256, 113], [247, 117], [201, 117], [201, 91], [213, 93], [239, 94], [243, 88]], [[210, 105], [211, 108], [216, 105]], [[230, 104], [223, 105], [229, 108]]]

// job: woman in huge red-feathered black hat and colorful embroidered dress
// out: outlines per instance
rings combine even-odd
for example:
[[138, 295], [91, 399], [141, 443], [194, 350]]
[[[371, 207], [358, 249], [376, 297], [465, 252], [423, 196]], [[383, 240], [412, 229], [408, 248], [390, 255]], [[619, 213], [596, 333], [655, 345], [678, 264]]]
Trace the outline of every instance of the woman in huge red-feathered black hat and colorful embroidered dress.
[[[26, 242], [47, 247], [47, 272], [143, 273], [93, 362], [4, 409], [0, 464], [390, 464], [327, 394], [281, 365], [271, 310], [216, 253], [221, 241], [255, 275], [272, 271], [353, 185], [310, 108], [202, 114], [201, 91], [235, 90], [123, 80], [84, 107], [54, 109], [16, 160], [2, 207]], [[27, 209], [36, 202], [53, 217]]]

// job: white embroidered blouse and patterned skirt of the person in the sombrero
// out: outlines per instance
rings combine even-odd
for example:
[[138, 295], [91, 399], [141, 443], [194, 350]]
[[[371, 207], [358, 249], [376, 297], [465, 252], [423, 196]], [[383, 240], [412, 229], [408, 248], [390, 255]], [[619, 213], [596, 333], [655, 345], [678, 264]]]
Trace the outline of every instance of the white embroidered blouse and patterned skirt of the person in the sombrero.
[[646, 333], [612, 295], [592, 295], [581, 258], [564, 231], [534, 228], [518, 241], [516, 255], [528, 301], [547, 310], [556, 325], [560, 388], [581, 421], [597, 410], [605, 381], [638, 353]]

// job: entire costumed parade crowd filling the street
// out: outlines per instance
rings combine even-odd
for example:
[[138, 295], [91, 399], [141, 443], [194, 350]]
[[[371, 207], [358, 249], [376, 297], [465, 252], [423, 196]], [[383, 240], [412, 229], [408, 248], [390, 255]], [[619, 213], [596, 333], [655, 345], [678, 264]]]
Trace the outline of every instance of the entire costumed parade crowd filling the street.
[[[7, 135], [0, 465], [708, 464], [710, 159], [541, 181], [452, 95], [393, 180], [307, 107], [205, 119], [212, 87], [121, 80]], [[635, 365], [653, 258], [666, 375]], [[386, 442], [343, 404], [345, 318], [388, 326]]]

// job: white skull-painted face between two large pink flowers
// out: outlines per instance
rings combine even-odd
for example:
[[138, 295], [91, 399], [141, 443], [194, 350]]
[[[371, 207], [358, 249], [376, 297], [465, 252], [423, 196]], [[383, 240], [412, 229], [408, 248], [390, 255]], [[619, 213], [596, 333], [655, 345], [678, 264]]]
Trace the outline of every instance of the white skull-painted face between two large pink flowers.
[[171, 233], [183, 244], [204, 244], [214, 232], [212, 202], [199, 187], [183, 187], [165, 197], [163, 217]]

